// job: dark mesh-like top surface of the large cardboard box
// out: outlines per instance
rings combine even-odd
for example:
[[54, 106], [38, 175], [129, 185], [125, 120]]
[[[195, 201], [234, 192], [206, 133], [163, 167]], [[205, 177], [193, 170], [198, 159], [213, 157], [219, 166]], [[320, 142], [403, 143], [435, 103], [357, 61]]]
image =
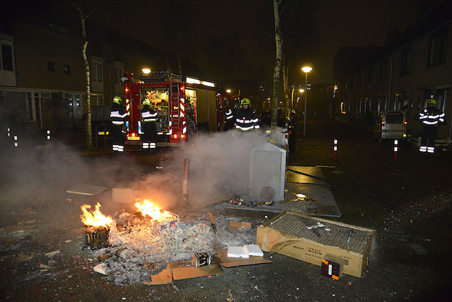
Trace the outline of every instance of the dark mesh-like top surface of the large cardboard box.
[[[324, 223], [323, 228], [309, 230], [307, 226], [315, 226], [317, 222]], [[372, 232], [359, 228], [351, 228], [333, 223], [323, 222], [314, 218], [298, 216], [286, 213], [276, 221], [270, 223], [270, 227], [282, 233], [306, 238], [324, 245], [337, 246], [353, 252], [363, 252], [371, 238]], [[330, 231], [326, 231], [329, 228]], [[347, 242], [350, 236], [350, 242]]]

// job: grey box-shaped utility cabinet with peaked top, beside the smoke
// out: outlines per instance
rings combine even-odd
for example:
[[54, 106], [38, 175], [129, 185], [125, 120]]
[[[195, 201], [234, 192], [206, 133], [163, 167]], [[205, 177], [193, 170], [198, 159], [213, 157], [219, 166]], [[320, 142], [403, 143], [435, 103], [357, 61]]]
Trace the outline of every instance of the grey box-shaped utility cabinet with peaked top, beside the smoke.
[[275, 190], [273, 202], [284, 199], [286, 157], [287, 147], [276, 139], [251, 150], [249, 189], [253, 199], [258, 200], [261, 190], [267, 186]]

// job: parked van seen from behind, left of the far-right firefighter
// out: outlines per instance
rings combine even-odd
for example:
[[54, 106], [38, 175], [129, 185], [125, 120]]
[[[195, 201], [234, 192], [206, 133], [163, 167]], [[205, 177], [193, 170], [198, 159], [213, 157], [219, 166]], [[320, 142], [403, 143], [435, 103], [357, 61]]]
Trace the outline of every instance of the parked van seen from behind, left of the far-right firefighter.
[[374, 141], [380, 144], [384, 139], [406, 139], [406, 112], [391, 110], [381, 111], [374, 128]]

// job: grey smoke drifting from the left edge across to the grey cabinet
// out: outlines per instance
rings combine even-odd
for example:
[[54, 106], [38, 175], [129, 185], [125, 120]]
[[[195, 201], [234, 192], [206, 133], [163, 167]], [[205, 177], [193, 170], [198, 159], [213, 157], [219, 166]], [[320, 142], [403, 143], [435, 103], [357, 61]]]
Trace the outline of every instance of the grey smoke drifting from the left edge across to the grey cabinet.
[[[144, 153], [122, 156], [89, 156], [64, 144], [52, 148], [32, 143], [20, 148], [4, 148], [0, 154], [1, 206], [37, 203], [39, 199], [64, 199], [66, 190], [76, 185], [131, 188], [133, 196], [114, 204], [99, 200], [110, 214], [133, 207], [133, 197], [149, 199], [160, 207], [178, 207], [182, 202], [184, 159], [190, 161], [189, 203], [205, 207], [246, 194], [249, 186], [249, 158], [254, 146], [268, 141], [259, 133], [222, 132], [198, 134], [190, 144], [160, 151], [161, 170], [150, 167]], [[138, 161], [144, 161], [138, 164]]]

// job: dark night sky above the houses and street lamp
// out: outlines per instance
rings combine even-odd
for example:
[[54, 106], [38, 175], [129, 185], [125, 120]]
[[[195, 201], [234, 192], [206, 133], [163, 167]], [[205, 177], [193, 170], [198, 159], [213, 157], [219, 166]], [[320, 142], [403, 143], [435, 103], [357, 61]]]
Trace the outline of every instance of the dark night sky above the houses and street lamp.
[[[169, 51], [180, 50], [222, 86], [237, 82], [270, 88], [275, 62], [272, 0], [73, 0], [105, 8], [92, 21]], [[450, 0], [283, 0], [283, 35], [290, 83], [304, 76], [302, 64], [314, 68], [313, 83], [332, 83], [333, 57], [342, 46], [381, 46], [391, 28], [403, 31], [420, 17], [426, 4]], [[63, 15], [59, 8], [47, 14]], [[55, 7], [53, 0], [44, 1]], [[26, 12], [21, 4], [18, 13]], [[423, 6], [422, 6], [423, 5]], [[69, 6], [69, 11], [76, 14]]]

